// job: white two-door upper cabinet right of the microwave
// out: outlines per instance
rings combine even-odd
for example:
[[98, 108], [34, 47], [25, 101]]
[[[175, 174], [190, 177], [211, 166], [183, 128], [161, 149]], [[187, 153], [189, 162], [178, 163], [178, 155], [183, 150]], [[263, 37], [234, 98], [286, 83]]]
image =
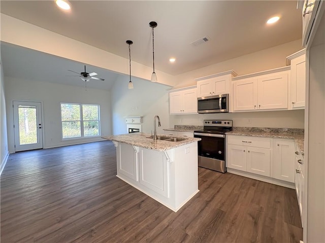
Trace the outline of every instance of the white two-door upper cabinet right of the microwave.
[[233, 78], [233, 111], [287, 109], [290, 67]]

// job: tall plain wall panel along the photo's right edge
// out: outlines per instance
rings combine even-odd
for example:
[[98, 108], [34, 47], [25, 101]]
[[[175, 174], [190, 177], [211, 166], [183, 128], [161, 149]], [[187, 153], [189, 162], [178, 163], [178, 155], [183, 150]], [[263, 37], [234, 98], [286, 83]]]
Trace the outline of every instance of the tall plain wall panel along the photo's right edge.
[[[323, 3], [324, 4], [324, 3]], [[321, 15], [320, 15], [321, 16]], [[307, 237], [325, 242], [325, 8], [309, 50]], [[306, 154], [305, 154], [306, 155]], [[305, 179], [306, 180], [306, 179]], [[306, 186], [306, 184], [305, 184]], [[306, 187], [305, 187], [306, 188]], [[305, 191], [306, 192], [306, 191]], [[305, 200], [306, 201], [306, 200]], [[305, 208], [306, 209], [306, 208]], [[305, 224], [306, 226], [306, 224]]]

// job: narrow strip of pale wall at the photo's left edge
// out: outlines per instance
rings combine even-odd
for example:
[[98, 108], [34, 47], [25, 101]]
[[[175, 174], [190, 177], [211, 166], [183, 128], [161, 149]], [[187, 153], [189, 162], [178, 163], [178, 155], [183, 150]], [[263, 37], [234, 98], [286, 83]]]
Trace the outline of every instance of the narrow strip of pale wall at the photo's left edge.
[[5, 100], [5, 78], [3, 65], [0, 60], [0, 174], [3, 171], [8, 158], [8, 139], [7, 139], [7, 118], [6, 118], [6, 100]]

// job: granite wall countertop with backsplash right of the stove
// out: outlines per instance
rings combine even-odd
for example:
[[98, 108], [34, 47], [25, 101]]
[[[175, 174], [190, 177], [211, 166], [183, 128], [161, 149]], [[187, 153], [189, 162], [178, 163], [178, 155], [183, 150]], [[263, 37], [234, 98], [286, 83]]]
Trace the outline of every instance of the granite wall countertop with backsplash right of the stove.
[[303, 129], [234, 127], [226, 135], [294, 139], [301, 152], [304, 152]]

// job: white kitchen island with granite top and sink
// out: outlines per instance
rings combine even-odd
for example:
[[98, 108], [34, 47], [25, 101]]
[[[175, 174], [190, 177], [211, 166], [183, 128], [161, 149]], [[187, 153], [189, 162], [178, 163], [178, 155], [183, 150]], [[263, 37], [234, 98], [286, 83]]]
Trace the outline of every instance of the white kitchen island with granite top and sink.
[[131, 133], [103, 138], [113, 141], [116, 147], [116, 176], [177, 212], [199, 192], [198, 141], [201, 139], [158, 135], [159, 139], [153, 140], [151, 137]]

